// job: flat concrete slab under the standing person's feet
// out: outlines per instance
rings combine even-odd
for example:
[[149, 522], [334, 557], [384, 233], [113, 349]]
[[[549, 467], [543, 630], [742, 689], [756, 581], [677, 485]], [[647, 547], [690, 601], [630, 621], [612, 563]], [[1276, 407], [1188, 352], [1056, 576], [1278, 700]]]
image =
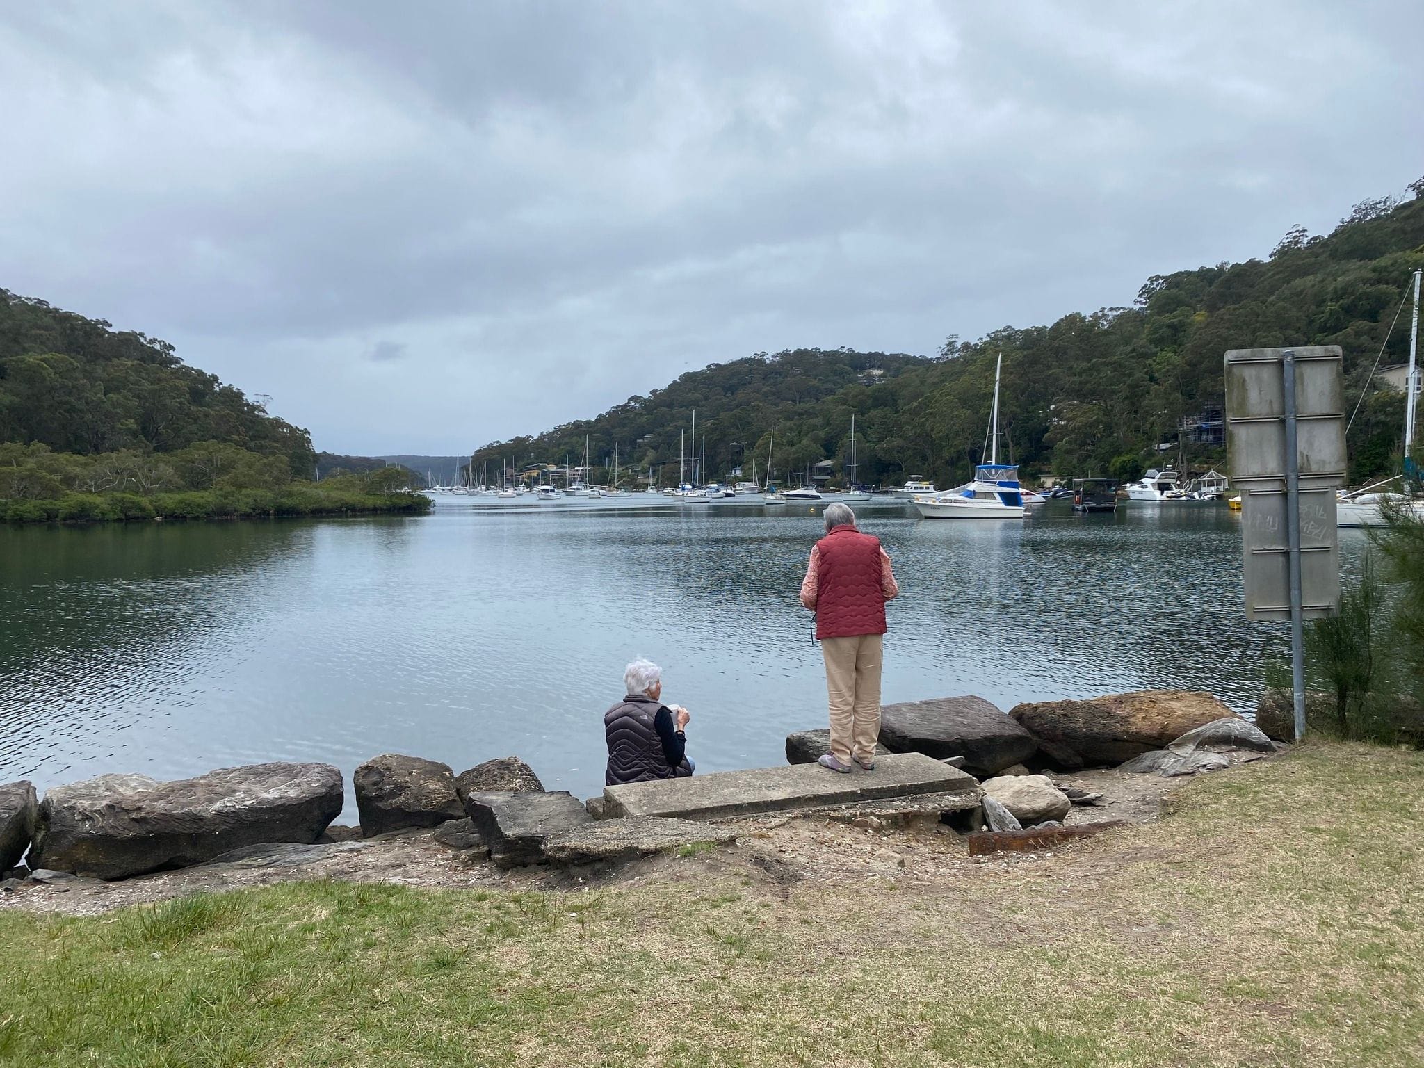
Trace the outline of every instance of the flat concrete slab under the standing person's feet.
[[924, 753], [891, 753], [877, 758], [876, 770], [856, 769], [850, 775], [803, 763], [608, 786], [604, 789], [604, 815], [715, 820], [920, 793], [977, 790], [978, 782], [973, 776], [943, 760]]

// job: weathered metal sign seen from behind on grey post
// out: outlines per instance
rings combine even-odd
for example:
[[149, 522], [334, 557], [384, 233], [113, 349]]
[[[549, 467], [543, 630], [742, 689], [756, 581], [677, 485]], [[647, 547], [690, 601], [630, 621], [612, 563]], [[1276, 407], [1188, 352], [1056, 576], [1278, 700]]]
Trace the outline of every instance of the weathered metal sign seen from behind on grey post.
[[1246, 617], [1290, 621], [1299, 740], [1306, 732], [1304, 621], [1340, 608], [1340, 346], [1227, 352], [1226, 426], [1230, 476], [1242, 494]]

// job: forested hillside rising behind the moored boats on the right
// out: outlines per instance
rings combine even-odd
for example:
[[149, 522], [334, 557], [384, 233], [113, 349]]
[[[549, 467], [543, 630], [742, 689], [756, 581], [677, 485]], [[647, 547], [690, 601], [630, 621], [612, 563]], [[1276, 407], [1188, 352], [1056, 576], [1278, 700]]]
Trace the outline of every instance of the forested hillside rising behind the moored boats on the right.
[[[946, 484], [981, 456], [1002, 353], [1001, 454], [1025, 476], [1135, 478], [1161, 463], [1158, 446], [1176, 441], [1179, 420], [1222, 404], [1226, 349], [1340, 345], [1354, 409], [1410, 272], [1424, 266], [1424, 179], [1408, 197], [1358, 204], [1329, 235], [1293, 228], [1265, 259], [1153, 276], [1132, 308], [1007, 326], [971, 343], [950, 337], [934, 357], [758, 353], [682, 375], [595, 419], [493, 443], [473, 461], [477, 471], [511, 459], [577, 463], [587, 434], [598, 463], [617, 441], [624, 467], [666, 464], [668, 483], [676, 478], [678, 433], [696, 409], [712, 477], [739, 463], [749, 468], [752, 456], [765, 470], [775, 429], [773, 466], [785, 481], [823, 459], [843, 463], [856, 413], [862, 481], [923, 473]], [[1407, 328], [1405, 308], [1381, 365], [1407, 357]], [[1351, 477], [1397, 464], [1403, 412], [1403, 393], [1371, 386], [1349, 434]], [[1222, 460], [1219, 446], [1188, 446], [1193, 466]]]

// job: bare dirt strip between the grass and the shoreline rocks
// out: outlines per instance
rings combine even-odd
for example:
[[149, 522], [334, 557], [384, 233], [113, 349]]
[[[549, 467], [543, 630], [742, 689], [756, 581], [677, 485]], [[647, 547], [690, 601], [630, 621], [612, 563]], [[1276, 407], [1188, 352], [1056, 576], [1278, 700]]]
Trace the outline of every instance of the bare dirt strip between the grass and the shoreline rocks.
[[[1118, 770], [1057, 776], [1059, 785], [1101, 793], [1105, 803], [1074, 806], [1068, 826], [1106, 820], [1151, 823], [1162, 812], [1163, 797], [1189, 779], [1163, 779]], [[860, 826], [857, 826], [857, 823]], [[867, 826], [869, 824], [869, 826]], [[397, 832], [376, 839], [292, 847], [275, 862], [258, 859], [228, 864], [198, 864], [120, 881], [70, 879], [60, 883], [23, 883], [0, 894], [0, 909], [26, 909], [68, 916], [94, 916], [144, 901], [158, 901], [199, 891], [268, 886], [290, 880], [333, 879], [365, 883], [447, 889], [580, 890], [614, 883], [703, 880], [733, 876], [775, 891], [792, 883], [893, 880], [899, 889], [936, 886], [977, 879], [985, 869], [1038, 864], [1077, 853], [1101, 860], [1114, 849], [1114, 834], [1094, 839], [1094, 847], [1074, 843], [1044, 853], [1001, 853], [970, 857], [963, 834], [948, 826], [918, 822], [910, 827], [876, 820], [852, 820], [846, 813], [779, 815], [731, 822], [736, 844], [692, 857], [648, 857], [617, 869], [561, 870], [547, 866], [506, 871], [478, 850], [456, 852], [437, 843], [431, 832]], [[1132, 846], [1136, 854], [1141, 846]]]

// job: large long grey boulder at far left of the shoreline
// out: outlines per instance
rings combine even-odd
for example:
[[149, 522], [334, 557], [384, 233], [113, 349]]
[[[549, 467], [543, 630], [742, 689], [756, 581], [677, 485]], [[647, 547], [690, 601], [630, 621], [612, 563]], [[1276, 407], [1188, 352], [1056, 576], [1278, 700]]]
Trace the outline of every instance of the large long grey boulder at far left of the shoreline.
[[328, 763], [222, 768], [195, 779], [101, 775], [44, 795], [31, 867], [124, 879], [259, 842], [313, 843], [342, 810]]

